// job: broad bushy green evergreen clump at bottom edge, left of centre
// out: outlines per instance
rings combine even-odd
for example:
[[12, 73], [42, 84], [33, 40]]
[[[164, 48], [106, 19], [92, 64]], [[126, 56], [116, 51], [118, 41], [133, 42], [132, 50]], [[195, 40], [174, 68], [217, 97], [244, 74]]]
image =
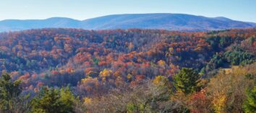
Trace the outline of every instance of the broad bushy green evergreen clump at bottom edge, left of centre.
[[32, 101], [32, 112], [71, 113], [74, 112], [75, 98], [69, 88], [43, 88]]

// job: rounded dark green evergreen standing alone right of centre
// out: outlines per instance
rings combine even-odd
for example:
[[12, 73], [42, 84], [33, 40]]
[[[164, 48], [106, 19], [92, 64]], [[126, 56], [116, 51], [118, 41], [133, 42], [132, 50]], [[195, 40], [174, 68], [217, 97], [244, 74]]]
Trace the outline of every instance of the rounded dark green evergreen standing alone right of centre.
[[177, 91], [182, 91], [184, 94], [191, 94], [198, 89], [200, 76], [192, 70], [192, 68], [182, 68], [179, 73], [174, 76], [174, 86]]

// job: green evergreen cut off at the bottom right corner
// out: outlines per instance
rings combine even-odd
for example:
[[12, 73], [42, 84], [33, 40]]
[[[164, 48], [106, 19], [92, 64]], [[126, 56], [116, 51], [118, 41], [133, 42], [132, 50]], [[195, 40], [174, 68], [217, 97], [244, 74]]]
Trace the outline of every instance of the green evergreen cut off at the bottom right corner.
[[246, 113], [256, 112], [256, 86], [254, 89], [247, 91], [247, 99], [244, 101], [243, 107]]

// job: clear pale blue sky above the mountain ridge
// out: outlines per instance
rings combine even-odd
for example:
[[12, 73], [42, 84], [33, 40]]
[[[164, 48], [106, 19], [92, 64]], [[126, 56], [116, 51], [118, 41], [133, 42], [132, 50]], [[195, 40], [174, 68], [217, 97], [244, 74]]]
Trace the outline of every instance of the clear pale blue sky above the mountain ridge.
[[1, 0], [0, 20], [182, 13], [256, 22], [256, 0]]

